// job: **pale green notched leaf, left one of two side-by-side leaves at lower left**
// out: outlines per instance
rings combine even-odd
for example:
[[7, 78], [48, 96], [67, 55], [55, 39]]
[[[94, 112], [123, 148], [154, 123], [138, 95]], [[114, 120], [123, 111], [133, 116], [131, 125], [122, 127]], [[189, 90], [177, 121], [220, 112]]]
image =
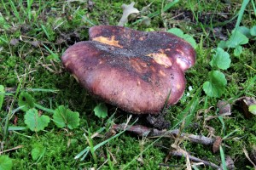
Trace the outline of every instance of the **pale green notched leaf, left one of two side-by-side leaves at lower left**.
[[47, 127], [49, 124], [49, 116], [39, 116], [36, 109], [26, 111], [24, 119], [26, 126], [35, 132], [44, 130], [44, 127]]

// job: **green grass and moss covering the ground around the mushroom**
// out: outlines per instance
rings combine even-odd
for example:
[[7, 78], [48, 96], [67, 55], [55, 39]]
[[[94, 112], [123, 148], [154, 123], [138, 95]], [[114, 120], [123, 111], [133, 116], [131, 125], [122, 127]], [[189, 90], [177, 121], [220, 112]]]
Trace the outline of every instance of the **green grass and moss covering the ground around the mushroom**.
[[[0, 110], [0, 151], [5, 150], [3, 155], [12, 159], [13, 169], [157, 169], [160, 164], [164, 165], [163, 169], [185, 168], [185, 158], [171, 156], [165, 162], [175, 142], [172, 139], [141, 139], [123, 132], [113, 134], [110, 129], [113, 122], [126, 122], [129, 114], [108, 105], [106, 119], [95, 116], [93, 109], [99, 101], [63, 69], [61, 54], [73, 43], [87, 40], [90, 26], [117, 25], [121, 18], [122, 3], [119, 1], [93, 2], [95, 6], [90, 10], [87, 3], [79, 1], [1, 1], [0, 85], [6, 94]], [[166, 111], [166, 120], [172, 123], [170, 129], [177, 126], [183, 127], [186, 133], [221, 136], [224, 141], [218, 153], [186, 140], [180, 141], [179, 147], [217, 165], [230, 156], [236, 168], [246, 165], [247, 169], [253, 169], [243, 148], [250, 151], [256, 143], [255, 116], [245, 119], [234, 105], [231, 116], [216, 117], [208, 122], [205, 118], [218, 114], [216, 105], [220, 99], [256, 96], [253, 79], [256, 75], [255, 40], [242, 46], [239, 58], [229, 49], [231, 65], [224, 71], [228, 86], [220, 98], [207, 97], [201, 87], [207, 81], [207, 72], [212, 70], [209, 65], [212, 48], [217, 47], [221, 38], [228, 38], [237, 26], [256, 26], [255, 4], [253, 1], [173, 2], [138, 1], [135, 6], [138, 9], [152, 3], [148, 11], [151, 25], [142, 26], [139, 20], [126, 25], [141, 31], [166, 31], [177, 27], [192, 35], [198, 43], [196, 64], [185, 75], [185, 94], [189, 92], [190, 95], [184, 95], [177, 105]], [[189, 86], [192, 91], [188, 90]], [[18, 105], [18, 96], [23, 91], [37, 100], [41, 107], [38, 110], [44, 115], [52, 116], [47, 108], [52, 111], [59, 105], [78, 111], [79, 128], [59, 128], [49, 122], [44, 131], [37, 133], [24, 129], [25, 112], [20, 111]], [[132, 116], [131, 122], [136, 119]], [[139, 120], [136, 124], [142, 122]], [[87, 156], [82, 154], [74, 159], [83, 150]]]

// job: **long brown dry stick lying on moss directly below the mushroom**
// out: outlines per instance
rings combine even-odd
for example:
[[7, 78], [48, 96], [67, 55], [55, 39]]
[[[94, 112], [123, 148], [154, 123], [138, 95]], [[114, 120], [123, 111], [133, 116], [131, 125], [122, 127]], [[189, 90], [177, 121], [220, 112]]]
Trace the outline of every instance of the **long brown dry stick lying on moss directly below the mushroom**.
[[[125, 127], [125, 123], [119, 124], [119, 125], [113, 125], [113, 130], [120, 131], [123, 130]], [[128, 132], [137, 133], [139, 136], [147, 136], [147, 137], [157, 137], [157, 136], [167, 136], [172, 137], [177, 136], [179, 133], [178, 129], [166, 131], [166, 130], [158, 130], [155, 128], [149, 128], [149, 127], [143, 127], [141, 125], [137, 126], [131, 126], [128, 130]], [[197, 143], [197, 144], [205, 144], [210, 145], [213, 144], [215, 139], [207, 138], [203, 135], [195, 135], [195, 134], [189, 134], [189, 133], [181, 133], [181, 137], [184, 139], [189, 139], [189, 141]]]

